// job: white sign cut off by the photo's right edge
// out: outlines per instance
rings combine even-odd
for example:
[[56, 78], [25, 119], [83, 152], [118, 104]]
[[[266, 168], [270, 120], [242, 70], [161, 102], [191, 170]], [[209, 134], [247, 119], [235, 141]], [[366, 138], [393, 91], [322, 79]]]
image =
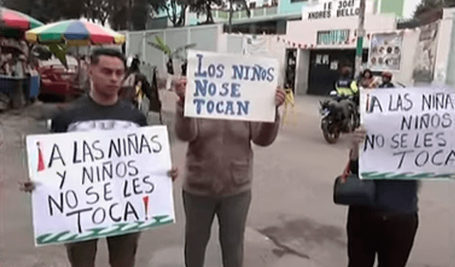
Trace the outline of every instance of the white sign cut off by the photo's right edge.
[[363, 89], [360, 111], [367, 129], [361, 178], [455, 177], [454, 89]]

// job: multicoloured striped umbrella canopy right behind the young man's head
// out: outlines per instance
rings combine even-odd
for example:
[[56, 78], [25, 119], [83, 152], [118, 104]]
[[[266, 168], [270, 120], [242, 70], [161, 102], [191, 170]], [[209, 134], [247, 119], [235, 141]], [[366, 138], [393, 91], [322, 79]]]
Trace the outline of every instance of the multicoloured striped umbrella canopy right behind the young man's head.
[[59, 21], [26, 32], [31, 43], [67, 43], [68, 45], [102, 45], [125, 42], [125, 37], [95, 23], [80, 20]]

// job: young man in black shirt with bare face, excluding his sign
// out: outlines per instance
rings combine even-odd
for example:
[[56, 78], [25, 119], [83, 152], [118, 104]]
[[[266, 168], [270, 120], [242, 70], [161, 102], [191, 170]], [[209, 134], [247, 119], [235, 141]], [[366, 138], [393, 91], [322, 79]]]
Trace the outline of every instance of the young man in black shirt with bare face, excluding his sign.
[[[55, 133], [92, 130], [120, 130], [146, 126], [147, 121], [131, 103], [119, 100], [118, 92], [125, 75], [125, 58], [117, 50], [100, 48], [90, 58], [89, 76], [92, 88], [87, 96], [73, 102], [68, 109], [53, 119]], [[169, 172], [173, 180], [176, 169]], [[25, 182], [21, 190], [33, 190], [32, 182]], [[109, 263], [112, 267], [132, 267], [137, 251], [139, 233], [107, 237]], [[97, 240], [66, 245], [72, 267], [95, 266]]]

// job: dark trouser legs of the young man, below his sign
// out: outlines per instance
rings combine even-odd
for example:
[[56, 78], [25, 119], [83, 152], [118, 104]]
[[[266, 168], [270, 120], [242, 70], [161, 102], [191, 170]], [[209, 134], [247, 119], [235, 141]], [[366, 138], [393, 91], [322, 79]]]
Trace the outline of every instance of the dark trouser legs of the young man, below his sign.
[[[94, 267], [97, 239], [66, 244], [71, 267]], [[112, 267], [133, 267], [139, 233], [107, 237], [109, 263]]]

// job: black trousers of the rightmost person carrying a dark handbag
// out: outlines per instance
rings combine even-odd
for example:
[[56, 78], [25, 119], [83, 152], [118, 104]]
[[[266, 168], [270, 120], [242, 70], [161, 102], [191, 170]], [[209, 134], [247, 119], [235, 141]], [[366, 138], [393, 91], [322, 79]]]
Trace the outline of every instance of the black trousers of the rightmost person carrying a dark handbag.
[[417, 213], [386, 214], [349, 207], [348, 267], [404, 267], [410, 256], [419, 218]]

